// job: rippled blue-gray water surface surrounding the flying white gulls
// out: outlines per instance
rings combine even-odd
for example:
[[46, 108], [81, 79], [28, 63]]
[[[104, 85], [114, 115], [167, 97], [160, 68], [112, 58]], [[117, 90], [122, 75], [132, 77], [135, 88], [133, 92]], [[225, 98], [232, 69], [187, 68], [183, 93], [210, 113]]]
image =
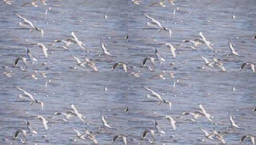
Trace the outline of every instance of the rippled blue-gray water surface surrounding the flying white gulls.
[[[230, 129], [229, 133], [224, 135], [227, 145], [239, 144], [242, 135], [255, 135], [255, 129], [252, 128], [256, 123], [256, 114], [252, 112], [256, 106], [255, 74], [250, 69], [239, 71], [239, 68], [243, 62], [256, 61], [253, 55], [256, 54], [256, 41], [252, 40], [256, 34], [256, 1], [177, 0], [176, 5], [166, 2], [166, 7], [153, 6], [147, 9], [152, 2], [154, 1], [143, 0], [140, 5], [135, 5], [126, 0], [49, 0], [46, 1], [46, 6], [38, 1], [37, 8], [31, 5], [20, 8], [23, 0], [15, 0], [11, 5], [1, 2], [0, 73], [10, 70], [13, 72], [12, 77], [0, 77], [0, 144], [22, 144], [19, 140], [22, 139], [22, 135], [19, 135], [17, 140], [12, 138], [16, 130], [26, 130], [25, 121], [29, 119], [38, 135], [28, 134], [25, 143], [27, 145], [91, 145], [90, 140], [76, 138], [72, 128], [83, 132], [85, 126], [77, 117], [69, 119], [69, 124], [56, 121], [64, 116], [54, 113], [71, 111], [71, 104], [86, 117], [86, 121], [99, 124], [86, 125], [89, 130], [97, 130], [101, 125], [100, 110], [107, 117], [108, 123], [117, 128], [117, 131], [102, 130], [96, 135], [99, 145], [110, 145], [112, 137], [117, 134], [128, 135], [128, 145], [149, 145], [150, 135], [147, 135], [145, 140], [142, 140], [141, 136], [145, 129], [154, 130], [154, 120], [157, 120], [166, 132], [166, 135], [156, 134], [155, 145], [219, 145], [221, 143], [218, 140], [206, 139], [199, 127], [209, 132], [213, 126], [217, 130], [225, 130], [225, 127], [230, 125], [228, 110], [235, 117], [238, 126], [245, 130]], [[61, 7], [53, 7], [45, 20], [45, 10], [51, 4]], [[173, 10], [181, 4], [189, 7], [180, 7], [173, 19]], [[108, 10], [108, 18], [104, 19]], [[236, 18], [233, 20], [232, 16], [236, 10]], [[45, 30], [45, 36], [41, 37], [38, 31], [29, 32], [29, 29], [19, 26], [17, 22], [21, 20], [13, 11], [34, 21], [35, 26]], [[145, 22], [148, 20], [141, 14], [142, 11], [158, 21], [163, 21], [162, 25], [173, 31], [172, 37], [169, 37], [167, 31], [157, 32], [156, 28], [146, 26]], [[90, 58], [100, 58], [96, 63], [99, 69], [97, 73], [89, 67], [69, 68], [76, 66], [76, 61], [71, 55], [84, 59], [84, 51], [77, 44], [71, 45], [68, 52], [47, 45], [56, 39], [71, 38], [72, 31], [80, 41], [86, 43], [85, 48], [90, 51]], [[245, 58], [237, 57], [234, 60], [233, 57], [229, 57], [224, 63], [226, 72], [206, 66], [205, 69], [197, 68], [204, 65], [200, 55], [212, 59], [211, 50], [202, 44], [198, 51], [192, 52], [177, 47], [176, 44], [181, 44], [184, 39], [199, 38], [199, 31], [214, 44], [213, 48], [217, 51], [218, 57], [223, 58], [223, 54], [230, 52], [226, 41], [230, 38], [235, 44], [235, 50]], [[129, 34], [129, 38], [123, 40], [126, 34]], [[118, 56], [117, 58], [106, 59], [104, 56], [96, 56], [101, 53], [100, 38], [107, 44], [108, 51]], [[29, 47], [38, 62], [28, 62], [25, 71], [19, 67], [13, 68], [16, 57], [25, 57], [27, 44], [38, 42], [45, 44], [49, 49], [49, 57], [45, 58], [38, 47]], [[153, 71], [143, 68], [142, 61], [145, 57], [155, 57], [153, 48], [156, 44], [166, 42], [177, 48], [177, 58], [174, 59], [167, 48], [157, 47], [166, 62], [156, 62], [156, 69]], [[129, 57], [124, 54], [129, 54]], [[121, 61], [128, 63], [128, 73], [119, 68], [111, 71], [111, 66]], [[42, 65], [42, 62], [47, 64]], [[175, 62], [175, 65], [170, 65], [170, 62]], [[149, 66], [149, 63], [146, 65]], [[22, 63], [19, 62], [18, 66], [22, 66]], [[34, 70], [46, 72], [47, 78], [37, 74], [38, 80], [30, 77], [21, 80]], [[140, 71], [140, 77], [131, 75], [137, 71]], [[176, 73], [175, 78], [166, 75], [166, 80], [156, 78], [148, 81], [151, 76], [162, 71]], [[61, 80], [53, 80], [45, 92], [45, 82], [51, 77], [58, 77]], [[189, 79], [178, 83], [174, 92], [172, 85], [178, 77]], [[236, 82], [236, 90], [233, 92], [232, 88]], [[104, 87], [108, 83], [108, 90], [105, 92]], [[38, 104], [30, 105], [29, 102], [19, 99], [18, 94], [21, 92], [16, 90], [13, 84], [43, 101], [44, 110]], [[145, 96], [148, 92], [142, 88], [142, 84], [172, 102], [172, 110], [168, 110], [166, 104], [148, 100]], [[199, 104], [214, 117], [215, 122], [221, 124], [213, 125], [203, 116], [197, 119], [197, 124], [185, 121], [192, 116], [182, 113], [200, 111]], [[126, 106], [129, 107], [128, 112], [124, 112]], [[29, 118], [35, 115], [46, 118], [49, 122], [48, 130], [44, 129], [41, 121]], [[174, 131], [167, 120], [158, 117], [162, 115], [172, 116], [177, 122], [177, 130]], [[121, 126], [128, 126], [129, 129]], [[5, 138], [7, 140], [2, 140]], [[76, 138], [77, 141], [69, 141], [68, 138]], [[205, 141], [198, 141], [197, 138]], [[123, 144], [122, 139], [114, 143]], [[243, 144], [252, 143], [246, 139]]]

